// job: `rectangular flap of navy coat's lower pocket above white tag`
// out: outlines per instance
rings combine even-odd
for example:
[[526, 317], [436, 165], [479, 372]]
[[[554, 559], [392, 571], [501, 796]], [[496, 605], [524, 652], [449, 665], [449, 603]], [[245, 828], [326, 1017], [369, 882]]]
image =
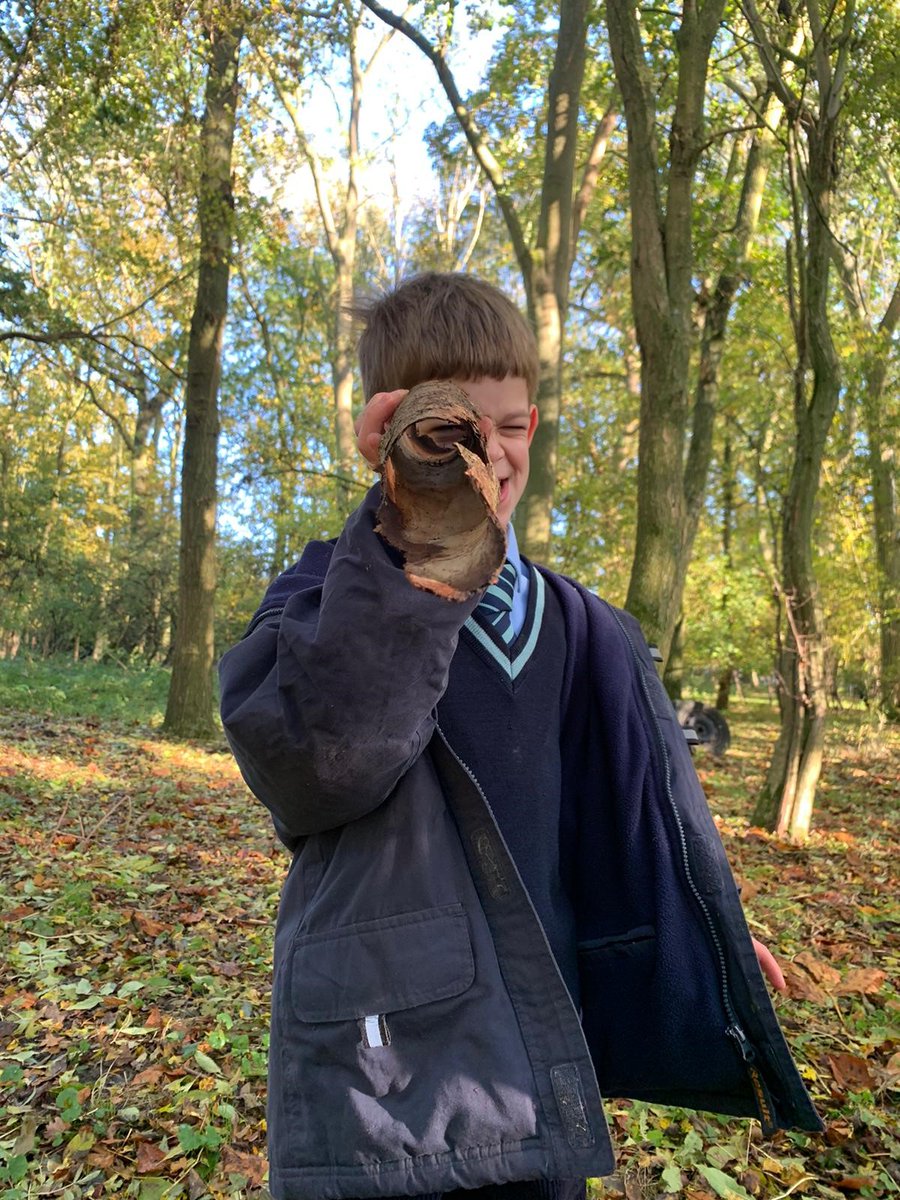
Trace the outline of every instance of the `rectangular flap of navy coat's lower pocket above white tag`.
[[301, 1021], [349, 1021], [458, 996], [475, 978], [460, 904], [403, 912], [294, 943], [292, 1001]]

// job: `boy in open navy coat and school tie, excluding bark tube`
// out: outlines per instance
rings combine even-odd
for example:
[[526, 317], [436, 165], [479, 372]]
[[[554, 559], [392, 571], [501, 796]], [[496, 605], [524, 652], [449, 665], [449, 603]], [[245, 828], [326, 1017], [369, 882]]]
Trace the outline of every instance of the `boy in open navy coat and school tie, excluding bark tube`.
[[[522, 316], [428, 274], [364, 318], [364, 456], [406, 389], [455, 379], [509, 522], [538, 419]], [[820, 1128], [635, 620], [511, 527], [505, 610], [416, 589], [379, 499], [306, 547], [221, 667], [235, 757], [294, 854], [272, 1194], [583, 1198], [613, 1168], [601, 1092]]]

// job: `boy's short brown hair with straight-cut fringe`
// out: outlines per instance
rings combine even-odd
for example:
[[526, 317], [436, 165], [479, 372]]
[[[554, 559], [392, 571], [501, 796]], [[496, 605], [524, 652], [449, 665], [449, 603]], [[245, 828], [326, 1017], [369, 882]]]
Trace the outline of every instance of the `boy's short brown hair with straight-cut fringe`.
[[359, 364], [368, 400], [426, 379], [505, 379], [538, 391], [538, 343], [526, 318], [475, 275], [426, 271], [354, 305], [362, 325]]

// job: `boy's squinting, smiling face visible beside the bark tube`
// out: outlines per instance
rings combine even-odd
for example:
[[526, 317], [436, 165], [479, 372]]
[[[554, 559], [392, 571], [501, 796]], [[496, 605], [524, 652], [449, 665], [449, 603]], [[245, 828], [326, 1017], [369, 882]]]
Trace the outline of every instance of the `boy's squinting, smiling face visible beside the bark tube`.
[[538, 409], [528, 400], [528, 384], [505, 379], [454, 379], [481, 413], [487, 455], [500, 484], [497, 515], [508, 524], [528, 482], [528, 450], [538, 426]]

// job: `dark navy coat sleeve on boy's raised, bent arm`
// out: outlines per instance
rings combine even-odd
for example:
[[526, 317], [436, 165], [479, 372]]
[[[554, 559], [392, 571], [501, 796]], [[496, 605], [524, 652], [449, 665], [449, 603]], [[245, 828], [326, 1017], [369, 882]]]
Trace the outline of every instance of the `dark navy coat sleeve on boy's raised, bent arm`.
[[350, 516], [324, 581], [293, 575], [283, 611], [220, 664], [226, 736], [289, 844], [365, 815], [418, 758], [478, 604], [409, 583], [374, 533], [379, 498]]

